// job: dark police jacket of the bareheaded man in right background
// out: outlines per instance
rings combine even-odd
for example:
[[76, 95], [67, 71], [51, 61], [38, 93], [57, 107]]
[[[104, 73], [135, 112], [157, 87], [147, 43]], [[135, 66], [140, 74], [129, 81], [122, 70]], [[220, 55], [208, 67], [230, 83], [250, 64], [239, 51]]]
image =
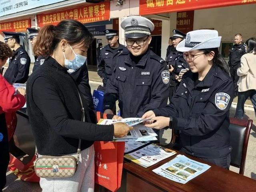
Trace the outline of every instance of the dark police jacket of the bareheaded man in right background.
[[230, 53], [228, 64], [230, 67], [239, 68], [241, 67], [241, 57], [246, 53], [245, 45], [242, 43], [240, 45], [233, 45]]

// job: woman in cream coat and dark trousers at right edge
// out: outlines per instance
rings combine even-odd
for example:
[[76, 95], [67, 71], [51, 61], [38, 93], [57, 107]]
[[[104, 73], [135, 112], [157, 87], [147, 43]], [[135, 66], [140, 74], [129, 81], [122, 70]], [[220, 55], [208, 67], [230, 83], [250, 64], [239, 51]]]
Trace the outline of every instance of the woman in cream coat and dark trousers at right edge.
[[246, 54], [241, 57], [241, 67], [237, 70], [238, 102], [235, 118], [244, 116], [244, 103], [248, 97], [254, 106], [256, 114], [256, 39], [250, 38], [246, 42]]

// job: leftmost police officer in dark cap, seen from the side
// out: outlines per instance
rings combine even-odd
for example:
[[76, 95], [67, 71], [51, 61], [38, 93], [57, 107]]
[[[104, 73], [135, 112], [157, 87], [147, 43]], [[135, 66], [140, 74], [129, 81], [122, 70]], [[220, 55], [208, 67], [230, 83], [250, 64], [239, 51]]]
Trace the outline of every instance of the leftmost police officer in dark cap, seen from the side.
[[3, 32], [6, 44], [13, 50], [13, 56], [9, 60], [9, 66], [4, 73], [4, 78], [10, 83], [25, 83], [28, 80], [30, 57], [20, 45], [22, 33]]

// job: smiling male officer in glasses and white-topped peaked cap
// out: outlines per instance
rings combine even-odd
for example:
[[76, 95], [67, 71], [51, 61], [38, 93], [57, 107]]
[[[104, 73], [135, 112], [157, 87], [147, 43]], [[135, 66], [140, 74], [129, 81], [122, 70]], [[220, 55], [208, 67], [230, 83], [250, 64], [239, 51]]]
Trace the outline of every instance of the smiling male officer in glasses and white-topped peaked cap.
[[112, 114], [119, 100], [122, 117], [141, 117], [144, 112], [167, 104], [170, 73], [166, 62], [149, 48], [154, 30], [150, 20], [130, 16], [122, 21], [121, 27], [129, 51], [120, 53], [116, 59], [104, 94], [104, 112]]

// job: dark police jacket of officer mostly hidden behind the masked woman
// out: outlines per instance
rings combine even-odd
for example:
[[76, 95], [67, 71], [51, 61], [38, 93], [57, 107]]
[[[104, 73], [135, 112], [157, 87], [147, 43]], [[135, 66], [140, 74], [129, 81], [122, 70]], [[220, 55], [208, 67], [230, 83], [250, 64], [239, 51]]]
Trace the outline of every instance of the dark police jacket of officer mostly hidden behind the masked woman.
[[[34, 63], [33, 72], [42, 64], [44, 64], [44, 61], [46, 59], [47, 57], [38, 56], [37, 60]], [[87, 105], [90, 107], [90, 109], [94, 109], [91, 87], [89, 85], [88, 68], [86, 64], [76, 70], [69, 69], [68, 73], [70, 74], [70, 76], [72, 76], [80, 93], [82, 93], [82, 96], [84, 96], [84, 98], [86, 99]]]

